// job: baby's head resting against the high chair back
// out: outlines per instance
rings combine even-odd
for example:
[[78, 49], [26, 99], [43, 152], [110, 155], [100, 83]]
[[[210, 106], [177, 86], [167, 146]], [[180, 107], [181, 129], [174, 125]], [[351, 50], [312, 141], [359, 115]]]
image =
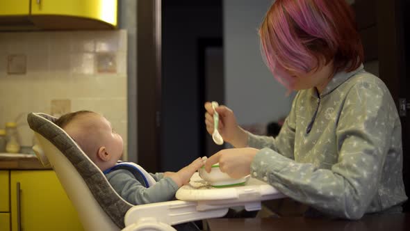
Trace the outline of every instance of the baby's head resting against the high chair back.
[[67, 113], [55, 123], [64, 129], [103, 171], [114, 166], [122, 156], [122, 137], [115, 133], [110, 122], [98, 113]]

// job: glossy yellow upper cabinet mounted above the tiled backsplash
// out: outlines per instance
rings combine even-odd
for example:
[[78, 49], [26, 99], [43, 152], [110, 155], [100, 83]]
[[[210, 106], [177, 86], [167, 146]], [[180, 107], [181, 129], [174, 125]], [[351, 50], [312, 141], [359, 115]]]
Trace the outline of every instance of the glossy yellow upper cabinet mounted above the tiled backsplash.
[[0, 30], [117, 28], [117, 0], [0, 0]]

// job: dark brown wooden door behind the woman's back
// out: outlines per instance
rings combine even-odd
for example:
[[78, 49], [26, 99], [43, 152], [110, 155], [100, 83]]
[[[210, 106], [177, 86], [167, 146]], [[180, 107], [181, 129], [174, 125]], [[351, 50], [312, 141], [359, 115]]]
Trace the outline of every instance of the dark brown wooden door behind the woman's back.
[[[403, 180], [407, 196], [410, 195], [410, 113], [406, 101], [410, 101], [406, 73], [409, 67], [410, 39], [409, 9], [407, 0], [355, 0], [352, 5], [363, 47], [366, 63], [371, 63], [380, 79], [386, 83], [396, 102], [402, 122]], [[370, 71], [372, 72], [372, 71]], [[375, 73], [376, 72], [376, 73]], [[404, 104], [403, 104], [404, 103]], [[410, 106], [409, 106], [410, 108]], [[404, 204], [404, 212], [409, 212], [409, 202]]]

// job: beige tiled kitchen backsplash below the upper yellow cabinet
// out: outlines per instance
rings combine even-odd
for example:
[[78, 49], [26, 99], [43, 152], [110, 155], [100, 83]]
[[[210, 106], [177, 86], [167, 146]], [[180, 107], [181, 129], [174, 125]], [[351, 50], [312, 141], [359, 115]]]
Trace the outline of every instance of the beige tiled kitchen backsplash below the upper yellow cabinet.
[[[25, 57], [23, 74], [10, 74], [15, 55]], [[54, 99], [103, 114], [124, 138], [126, 159], [126, 31], [0, 33], [0, 129], [17, 120], [22, 145], [32, 145], [26, 114], [51, 113]]]

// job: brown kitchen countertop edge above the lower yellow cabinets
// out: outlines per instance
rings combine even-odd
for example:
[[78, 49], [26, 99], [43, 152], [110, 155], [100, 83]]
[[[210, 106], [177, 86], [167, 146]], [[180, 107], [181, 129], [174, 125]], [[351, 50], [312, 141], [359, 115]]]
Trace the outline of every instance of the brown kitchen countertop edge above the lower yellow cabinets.
[[33, 154], [20, 153], [0, 153], [0, 170], [1, 169], [17, 169], [17, 170], [35, 170], [35, 169], [51, 169], [44, 167]]

